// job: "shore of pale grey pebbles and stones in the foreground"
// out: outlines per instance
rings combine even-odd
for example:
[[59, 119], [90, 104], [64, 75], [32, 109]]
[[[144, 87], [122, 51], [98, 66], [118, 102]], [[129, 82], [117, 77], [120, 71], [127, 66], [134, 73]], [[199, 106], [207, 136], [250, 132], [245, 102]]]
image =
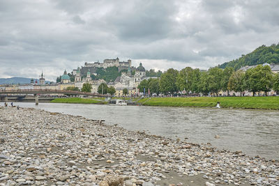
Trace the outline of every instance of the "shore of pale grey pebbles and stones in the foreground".
[[279, 162], [80, 116], [1, 107], [0, 185], [279, 185]]

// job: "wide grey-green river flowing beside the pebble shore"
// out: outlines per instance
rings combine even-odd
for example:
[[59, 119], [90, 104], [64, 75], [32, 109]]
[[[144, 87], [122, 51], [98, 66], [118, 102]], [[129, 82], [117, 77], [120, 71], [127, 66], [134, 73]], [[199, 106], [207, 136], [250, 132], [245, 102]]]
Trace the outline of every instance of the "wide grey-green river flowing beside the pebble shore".
[[[98, 104], [60, 104], [16, 102], [20, 107], [34, 107], [91, 119], [103, 119], [127, 130], [145, 130], [172, 139], [206, 144], [218, 149], [241, 150], [279, 160], [279, 111], [250, 109], [211, 109], [190, 107], [112, 106]], [[220, 139], [215, 139], [218, 134]]]

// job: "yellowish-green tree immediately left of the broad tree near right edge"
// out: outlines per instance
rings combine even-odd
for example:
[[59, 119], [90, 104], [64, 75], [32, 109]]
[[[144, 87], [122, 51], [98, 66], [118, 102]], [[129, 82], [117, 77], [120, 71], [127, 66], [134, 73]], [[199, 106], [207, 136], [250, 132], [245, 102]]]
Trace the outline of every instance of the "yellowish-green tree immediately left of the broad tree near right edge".
[[244, 78], [245, 78], [244, 72], [241, 71], [233, 72], [231, 77], [229, 77], [229, 82], [227, 84], [228, 90], [240, 92], [240, 96], [242, 96], [242, 92], [245, 90]]

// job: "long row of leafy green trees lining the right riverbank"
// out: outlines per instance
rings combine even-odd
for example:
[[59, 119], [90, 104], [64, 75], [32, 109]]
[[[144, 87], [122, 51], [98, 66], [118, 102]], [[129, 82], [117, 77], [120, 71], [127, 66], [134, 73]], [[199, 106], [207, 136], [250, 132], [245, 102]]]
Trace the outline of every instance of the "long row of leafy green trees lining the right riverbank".
[[269, 65], [257, 65], [246, 72], [234, 71], [234, 68], [227, 67], [210, 68], [208, 71], [201, 71], [190, 67], [182, 70], [170, 68], [164, 72], [160, 79], [144, 80], [138, 86], [140, 92], [144, 88], [150, 93], [178, 93], [185, 91], [190, 93], [213, 93], [217, 95], [222, 91], [256, 92], [264, 91], [266, 94], [273, 89], [279, 91], [279, 74], [273, 74]]

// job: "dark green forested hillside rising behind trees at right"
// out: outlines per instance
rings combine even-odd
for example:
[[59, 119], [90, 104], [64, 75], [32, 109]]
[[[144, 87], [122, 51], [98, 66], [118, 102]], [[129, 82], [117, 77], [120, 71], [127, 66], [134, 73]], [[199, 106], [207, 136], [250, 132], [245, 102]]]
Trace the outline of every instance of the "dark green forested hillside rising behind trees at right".
[[259, 65], [264, 63], [279, 64], [279, 43], [278, 45], [273, 44], [270, 47], [262, 45], [253, 52], [242, 55], [239, 59], [218, 65], [218, 67], [226, 68], [231, 66], [234, 70], [239, 70], [239, 68], [246, 65]]

